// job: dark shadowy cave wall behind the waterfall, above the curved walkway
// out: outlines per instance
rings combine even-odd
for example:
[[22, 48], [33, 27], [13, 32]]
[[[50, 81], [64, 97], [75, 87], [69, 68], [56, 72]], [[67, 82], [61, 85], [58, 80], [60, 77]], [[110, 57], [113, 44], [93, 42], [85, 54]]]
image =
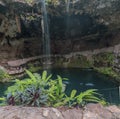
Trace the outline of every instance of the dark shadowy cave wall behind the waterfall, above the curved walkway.
[[[79, 0], [70, 4], [68, 14], [64, 3], [48, 5], [51, 53], [67, 54], [119, 44], [119, 6], [119, 0]], [[41, 5], [0, 5], [0, 45], [0, 60], [43, 54]]]

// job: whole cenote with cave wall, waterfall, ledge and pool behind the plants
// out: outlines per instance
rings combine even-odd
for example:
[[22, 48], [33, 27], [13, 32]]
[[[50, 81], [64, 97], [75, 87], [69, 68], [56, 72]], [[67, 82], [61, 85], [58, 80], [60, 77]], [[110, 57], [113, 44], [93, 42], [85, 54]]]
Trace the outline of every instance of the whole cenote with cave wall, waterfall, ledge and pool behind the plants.
[[[89, 69], [101, 68], [103, 73], [119, 77], [120, 28], [116, 26], [120, 26], [120, 20], [115, 20], [119, 15], [118, 0], [110, 3], [103, 0], [105, 4], [100, 0], [87, 4], [86, 0], [9, 1], [11, 4], [0, 3], [4, 11], [0, 13], [1, 71], [19, 76], [25, 74], [25, 69], [45, 69], [53, 65], [48, 70], [53, 79], [57, 75], [69, 79], [64, 81], [68, 95], [73, 89], [78, 94], [97, 89], [110, 104], [120, 104], [119, 84]], [[1, 82], [4, 79], [9, 78], [1, 78]], [[0, 83], [0, 97], [12, 84]]]

